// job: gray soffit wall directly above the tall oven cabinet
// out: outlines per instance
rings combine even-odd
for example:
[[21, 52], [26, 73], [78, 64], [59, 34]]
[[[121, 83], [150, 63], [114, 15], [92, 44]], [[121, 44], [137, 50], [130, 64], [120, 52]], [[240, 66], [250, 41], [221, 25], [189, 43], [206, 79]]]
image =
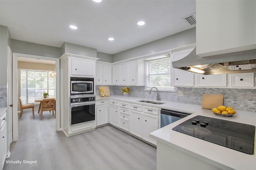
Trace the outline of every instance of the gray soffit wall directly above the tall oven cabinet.
[[63, 55], [65, 52], [70, 54], [82, 55], [86, 57], [95, 57], [95, 58], [97, 57], [97, 49], [84, 47], [82, 45], [76, 45], [72, 43], [66, 43], [66, 42], [60, 47], [60, 51], [61, 51], [61, 55]]

